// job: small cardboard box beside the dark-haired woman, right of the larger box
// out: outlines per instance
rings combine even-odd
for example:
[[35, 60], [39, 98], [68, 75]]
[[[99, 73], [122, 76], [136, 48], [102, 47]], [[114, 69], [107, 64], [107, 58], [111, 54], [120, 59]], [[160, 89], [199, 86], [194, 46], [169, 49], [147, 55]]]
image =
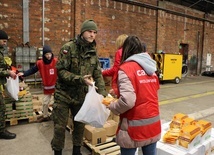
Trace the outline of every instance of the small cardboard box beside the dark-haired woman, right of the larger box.
[[106, 136], [114, 136], [116, 134], [118, 123], [114, 120], [108, 120], [103, 128], [106, 129]]

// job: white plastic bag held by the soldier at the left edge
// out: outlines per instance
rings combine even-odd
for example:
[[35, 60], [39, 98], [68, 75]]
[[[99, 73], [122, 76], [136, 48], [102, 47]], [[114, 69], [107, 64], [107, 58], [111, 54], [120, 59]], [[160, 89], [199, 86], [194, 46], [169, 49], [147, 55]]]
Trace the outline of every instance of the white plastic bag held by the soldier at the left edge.
[[9, 95], [18, 101], [19, 78], [17, 77], [15, 80], [11, 77], [7, 78], [6, 89]]

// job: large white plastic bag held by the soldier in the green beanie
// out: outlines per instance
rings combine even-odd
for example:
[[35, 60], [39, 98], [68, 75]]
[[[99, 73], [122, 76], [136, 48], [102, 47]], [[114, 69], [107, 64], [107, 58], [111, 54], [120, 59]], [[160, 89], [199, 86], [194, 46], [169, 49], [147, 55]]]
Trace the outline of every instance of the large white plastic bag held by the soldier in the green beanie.
[[93, 86], [89, 86], [83, 105], [74, 120], [96, 128], [102, 128], [110, 114], [110, 110], [102, 104], [102, 99], [103, 96], [96, 92], [93, 83]]

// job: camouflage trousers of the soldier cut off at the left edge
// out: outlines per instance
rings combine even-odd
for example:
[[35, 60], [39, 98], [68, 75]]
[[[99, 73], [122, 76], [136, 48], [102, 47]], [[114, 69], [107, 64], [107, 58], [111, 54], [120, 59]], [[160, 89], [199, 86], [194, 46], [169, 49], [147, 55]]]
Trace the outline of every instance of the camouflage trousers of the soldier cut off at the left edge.
[[2, 92], [0, 92], [0, 132], [5, 130], [5, 111], [4, 98]]

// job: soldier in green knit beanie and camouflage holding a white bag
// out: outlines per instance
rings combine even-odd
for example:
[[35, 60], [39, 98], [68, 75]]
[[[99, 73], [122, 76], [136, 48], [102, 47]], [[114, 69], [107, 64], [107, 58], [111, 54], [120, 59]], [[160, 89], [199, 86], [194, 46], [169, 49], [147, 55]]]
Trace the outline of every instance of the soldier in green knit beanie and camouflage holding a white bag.
[[[82, 23], [80, 35], [64, 44], [60, 50], [56, 66], [58, 80], [52, 112], [54, 137], [51, 145], [55, 155], [61, 155], [64, 148], [69, 109], [73, 116], [77, 114], [84, 102], [88, 85], [92, 85], [91, 77], [95, 81], [98, 93], [107, 95], [96, 51], [96, 34], [95, 22], [86, 20]], [[73, 155], [81, 155], [84, 125], [74, 121]]]

